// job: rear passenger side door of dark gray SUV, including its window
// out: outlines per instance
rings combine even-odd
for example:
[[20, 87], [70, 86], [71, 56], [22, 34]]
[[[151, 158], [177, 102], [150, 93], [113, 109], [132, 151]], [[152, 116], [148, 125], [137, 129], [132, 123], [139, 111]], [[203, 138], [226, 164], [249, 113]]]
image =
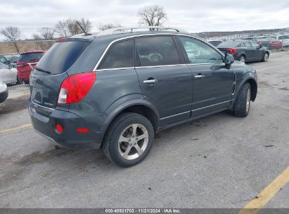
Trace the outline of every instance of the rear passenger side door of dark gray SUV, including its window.
[[173, 37], [158, 35], [135, 39], [136, 73], [145, 99], [158, 109], [160, 125], [191, 115], [193, 78], [180, 58]]

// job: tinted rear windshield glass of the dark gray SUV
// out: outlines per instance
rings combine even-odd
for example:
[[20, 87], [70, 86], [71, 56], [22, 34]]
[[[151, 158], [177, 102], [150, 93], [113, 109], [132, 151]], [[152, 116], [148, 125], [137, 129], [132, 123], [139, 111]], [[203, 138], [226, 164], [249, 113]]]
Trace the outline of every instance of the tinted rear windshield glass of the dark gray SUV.
[[[53, 44], [37, 63], [37, 68], [55, 75], [65, 73], [83, 53], [89, 42], [69, 41]], [[37, 69], [36, 68], [36, 69]]]

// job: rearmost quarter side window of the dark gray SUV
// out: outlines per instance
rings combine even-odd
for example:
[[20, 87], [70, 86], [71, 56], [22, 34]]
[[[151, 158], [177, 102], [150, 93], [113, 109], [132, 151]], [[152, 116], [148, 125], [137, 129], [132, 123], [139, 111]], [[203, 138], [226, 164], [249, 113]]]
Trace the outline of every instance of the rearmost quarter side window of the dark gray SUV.
[[134, 40], [113, 44], [98, 69], [134, 67]]

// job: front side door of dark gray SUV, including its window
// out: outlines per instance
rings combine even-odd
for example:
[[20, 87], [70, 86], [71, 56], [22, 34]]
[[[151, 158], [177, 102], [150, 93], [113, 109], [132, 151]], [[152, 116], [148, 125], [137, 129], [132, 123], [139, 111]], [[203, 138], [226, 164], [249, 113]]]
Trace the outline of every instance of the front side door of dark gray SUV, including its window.
[[225, 67], [221, 53], [199, 39], [179, 39], [193, 73], [192, 116], [228, 107], [233, 92], [233, 70]]

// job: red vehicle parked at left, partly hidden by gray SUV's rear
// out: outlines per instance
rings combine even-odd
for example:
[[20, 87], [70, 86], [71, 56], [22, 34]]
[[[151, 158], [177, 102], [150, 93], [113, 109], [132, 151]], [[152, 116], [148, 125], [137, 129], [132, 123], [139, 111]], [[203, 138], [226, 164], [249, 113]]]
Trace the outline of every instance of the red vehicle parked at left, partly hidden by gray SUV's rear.
[[27, 51], [20, 54], [17, 61], [18, 82], [29, 83], [30, 73], [44, 53], [45, 51]]

